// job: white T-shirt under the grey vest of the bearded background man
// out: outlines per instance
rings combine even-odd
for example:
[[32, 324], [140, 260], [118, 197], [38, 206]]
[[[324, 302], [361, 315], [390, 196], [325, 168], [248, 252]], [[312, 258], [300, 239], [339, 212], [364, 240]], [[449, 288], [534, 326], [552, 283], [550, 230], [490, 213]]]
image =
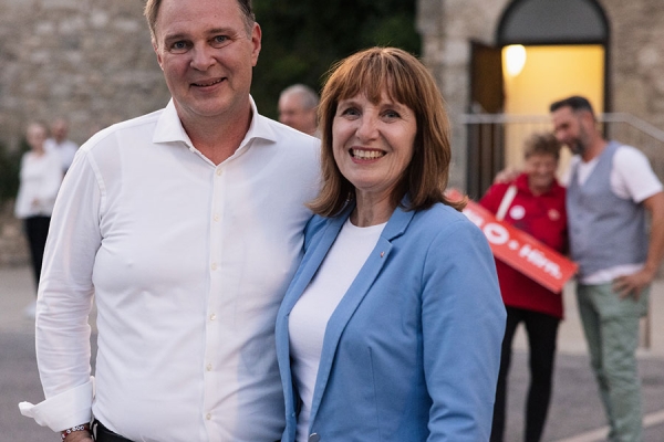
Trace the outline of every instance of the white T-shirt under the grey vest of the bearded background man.
[[[584, 162], [579, 155], [572, 157], [568, 173], [563, 182], [571, 180], [571, 170], [579, 165], [577, 172], [578, 182], [582, 186], [594, 170], [599, 157]], [[619, 198], [631, 199], [636, 203], [662, 191], [662, 182], [651, 168], [645, 155], [635, 147], [620, 146], [613, 155], [610, 176], [611, 191]], [[583, 284], [605, 284], [618, 276], [631, 275], [643, 269], [645, 263], [616, 265], [592, 273], [580, 280]]]

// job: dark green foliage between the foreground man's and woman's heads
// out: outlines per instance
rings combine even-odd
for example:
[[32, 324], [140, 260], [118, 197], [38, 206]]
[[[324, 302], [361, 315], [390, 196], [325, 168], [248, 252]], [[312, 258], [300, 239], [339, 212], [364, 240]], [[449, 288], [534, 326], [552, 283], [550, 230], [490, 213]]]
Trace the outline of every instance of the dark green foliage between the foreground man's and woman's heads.
[[415, 0], [253, 0], [262, 50], [251, 94], [274, 118], [279, 93], [293, 83], [320, 91], [332, 63], [365, 48], [419, 53]]

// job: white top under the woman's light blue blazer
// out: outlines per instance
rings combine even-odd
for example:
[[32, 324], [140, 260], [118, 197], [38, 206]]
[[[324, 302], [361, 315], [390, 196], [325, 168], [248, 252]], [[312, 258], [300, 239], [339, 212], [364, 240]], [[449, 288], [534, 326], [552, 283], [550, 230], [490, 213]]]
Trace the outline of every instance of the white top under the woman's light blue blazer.
[[328, 320], [376, 246], [385, 224], [359, 228], [349, 218], [290, 313], [291, 369], [302, 399], [298, 415], [299, 442], [309, 438], [309, 417]]

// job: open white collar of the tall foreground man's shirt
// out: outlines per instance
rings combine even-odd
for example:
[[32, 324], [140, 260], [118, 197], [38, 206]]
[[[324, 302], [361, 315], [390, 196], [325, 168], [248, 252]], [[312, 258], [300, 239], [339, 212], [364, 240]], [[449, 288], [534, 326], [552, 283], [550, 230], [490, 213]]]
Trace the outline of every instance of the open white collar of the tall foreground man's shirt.
[[[269, 118], [263, 117], [258, 113], [253, 97], [249, 96], [249, 101], [251, 103], [251, 124], [249, 125], [249, 130], [247, 130], [245, 139], [240, 143], [238, 150], [245, 148], [245, 146], [249, 145], [256, 138], [264, 139], [269, 141], [269, 144], [277, 141], [277, 135], [269, 124]], [[177, 115], [175, 103], [173, 98], [170, 98], [157, 120], [157, 126], [155, 127], [155, 133], [153, 135], [153, 143], [160, 144], [174, 141], [185, 143], [187, 146], [194, 147], [191, 139], [185, 131], [179, 116]]]

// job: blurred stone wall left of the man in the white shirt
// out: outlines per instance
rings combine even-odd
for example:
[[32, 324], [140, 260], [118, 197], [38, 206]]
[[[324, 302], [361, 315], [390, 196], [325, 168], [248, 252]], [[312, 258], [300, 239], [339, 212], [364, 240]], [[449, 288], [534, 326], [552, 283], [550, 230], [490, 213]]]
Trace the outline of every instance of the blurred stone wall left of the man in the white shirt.
[[[0, 0], [0, 140], [29, 120], [70, 120], [84, 143], [102, 127], [168, 102], [143, 0]], [[0, 208], [0, 265], [28, 262], [12, 204]]]

